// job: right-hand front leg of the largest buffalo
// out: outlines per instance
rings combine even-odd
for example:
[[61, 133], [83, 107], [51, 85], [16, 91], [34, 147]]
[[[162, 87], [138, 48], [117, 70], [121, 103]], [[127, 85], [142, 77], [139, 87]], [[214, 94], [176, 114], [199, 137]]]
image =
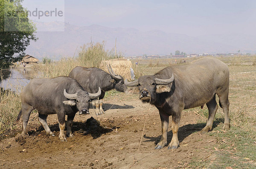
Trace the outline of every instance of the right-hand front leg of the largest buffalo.
[[179, 130], [179, 124], [180, 124], [180, 113], [173, 113], [172, 115], [172, 141], [168, 145], [168, 149], [177, 149], [179, 144], [178, 140], [178, 130]]

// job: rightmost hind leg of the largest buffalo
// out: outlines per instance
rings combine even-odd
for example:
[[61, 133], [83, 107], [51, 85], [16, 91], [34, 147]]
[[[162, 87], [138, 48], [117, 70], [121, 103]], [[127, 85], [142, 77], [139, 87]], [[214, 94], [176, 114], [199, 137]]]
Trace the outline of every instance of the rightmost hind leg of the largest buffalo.
[[222, 93], [217, 93], [218, 97], [220, 99], [220, 103], [221, 103], [221, 107], [223, 109], [224, 112], [224, 126], [223, 126], [223, 130], [229, 130], [230, 128], [230, 119], [228, 116], [228, 111], [229, 111], [229, 101], [228, 101], [228, 89]]

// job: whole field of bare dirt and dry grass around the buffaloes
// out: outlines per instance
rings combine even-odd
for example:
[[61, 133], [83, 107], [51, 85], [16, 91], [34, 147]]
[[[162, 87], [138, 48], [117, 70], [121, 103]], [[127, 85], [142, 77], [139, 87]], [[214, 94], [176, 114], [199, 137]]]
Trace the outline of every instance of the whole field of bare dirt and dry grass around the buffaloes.
[[[186, 59], [186, 62], [193, 59]], [[13, 124], [12, 129], [3, 131], [0, 134], [0, 168], [256, 168], [255, 57], [218, 59], [230, 68], [230, 130], [222, 130], [224, 114], [220, 107], [213, 130], [206, 134], [200, 134], [199, 131], [206, 124], [207, 107], [183, 110], [178, 132], [180, 147], [176, 150], [168, 150], [167, 147], [155, 150], [154, 146], [161, 136], [161, 121], [156, 107], [143, 104], [137, 95], [111, 90], [104, 99], [103, 109], [106, 114], [96, 116], [91, 107], [90, 115], [76, 115], [74, 137], [67, 138], [67, 142], [58, 139], [56, 114], [47, 118], [55, 137], [46, 135], [36, 112], [30, 116], [28, 135], [18, 134], [21, 132], [20, 121]], [[139, 65], [134, 65], [137, 77], [156, 73], [174, 64], [174, 59], [138, 61]], [[134, 64], [136, 61], [132, 62]], [[181, 64], [183, 60], [178, 62]], [[46, 67], [45, 70], [49, 69]], [[13, 102], [18, 105], [7, 106], [2, 105], [11, 101], [1, 96], [1, 115], [3, 111], [12, 112], [12, 116], [17, 115], [20, 108], [17, 100], [20, 98], [15, 96], [11, 93], [8, 99], [16, 98]], [[8, 110], [8, 107], [12, 110]], [[169, 124], [167, 144], [171, 139]]]

